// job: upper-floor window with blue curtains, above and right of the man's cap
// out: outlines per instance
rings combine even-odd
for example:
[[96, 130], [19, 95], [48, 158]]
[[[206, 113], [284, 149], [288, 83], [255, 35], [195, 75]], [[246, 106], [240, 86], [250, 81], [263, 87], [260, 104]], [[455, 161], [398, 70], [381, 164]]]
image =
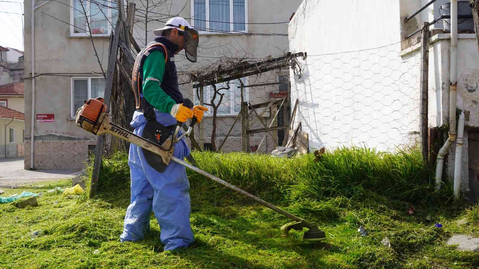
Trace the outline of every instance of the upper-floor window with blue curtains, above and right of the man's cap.
[[200, 33], [248, 31], [248, 0], [193, 0], [192, 26]]

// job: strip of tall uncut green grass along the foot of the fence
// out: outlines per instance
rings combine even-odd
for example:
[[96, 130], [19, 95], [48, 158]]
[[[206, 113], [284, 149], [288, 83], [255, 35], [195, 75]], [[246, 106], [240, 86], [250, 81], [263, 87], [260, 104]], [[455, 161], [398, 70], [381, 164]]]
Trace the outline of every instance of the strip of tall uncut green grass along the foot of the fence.
[[[397, 153], [367, 148], [339, 148], [319, 157], [293, 158], [245, 153], [193, 152], [198, 167], [272, 202], [319, 201], [327, 197], [369, 199], [371, 193], [405, 202], [444, 204], [452, 197], [449, 184], [434, 188], [433, 170], [418, 150]], [[92, 168], [88, 169], [91, 174]], [[192, 188], [212, 197], [231, 193], [226, 187], [187, 169]], [[114, 194], [130, 186], [126, 153], [102, 160], [99, 192]]]

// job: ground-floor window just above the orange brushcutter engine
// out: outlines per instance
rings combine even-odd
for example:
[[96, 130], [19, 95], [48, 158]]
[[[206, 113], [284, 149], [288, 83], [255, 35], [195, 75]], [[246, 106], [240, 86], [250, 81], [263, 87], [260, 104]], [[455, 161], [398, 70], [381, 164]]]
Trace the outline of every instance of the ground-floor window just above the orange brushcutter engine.
[[72, 78], [71, 79], [71, 117], [90, 98], [103, 97], [106, 80], [104, 78]]

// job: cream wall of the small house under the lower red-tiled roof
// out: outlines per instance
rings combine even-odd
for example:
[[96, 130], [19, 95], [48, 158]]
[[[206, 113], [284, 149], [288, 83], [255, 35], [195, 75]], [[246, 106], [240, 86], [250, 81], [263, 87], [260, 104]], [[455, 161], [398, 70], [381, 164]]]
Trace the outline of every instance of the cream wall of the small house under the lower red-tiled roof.
[[[23, 128], [24, 122], [20, 120], [14, 120], [8, 126], [6, 126], [7, 134], [5, 140], [5, 125], [9, 123], [11, 119], [0, 118], [0, 158], [5, 158], [5, 141], [7, 158], [10, 157], [23, 157]], [[10, 143], [10, 128], [15, 129], [15, 141]]]

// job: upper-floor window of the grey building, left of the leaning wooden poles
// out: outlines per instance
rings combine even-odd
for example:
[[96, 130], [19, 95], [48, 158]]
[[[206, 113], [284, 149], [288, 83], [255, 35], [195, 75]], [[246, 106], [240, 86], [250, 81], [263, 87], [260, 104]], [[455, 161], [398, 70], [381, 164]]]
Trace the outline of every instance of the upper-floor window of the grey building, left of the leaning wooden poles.
[[[116, 1], [110, 0], [72, 0], [70, 13], [70, 34], [72, 36], [88, 36], [88, 25], [85, 13], [90, 22], [92, 35], [108, 36], [114, 29], [118, 19]], [[83, 11], [85, 10], [85, 12]]]

